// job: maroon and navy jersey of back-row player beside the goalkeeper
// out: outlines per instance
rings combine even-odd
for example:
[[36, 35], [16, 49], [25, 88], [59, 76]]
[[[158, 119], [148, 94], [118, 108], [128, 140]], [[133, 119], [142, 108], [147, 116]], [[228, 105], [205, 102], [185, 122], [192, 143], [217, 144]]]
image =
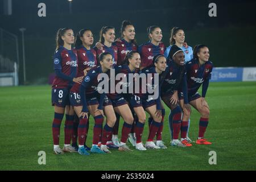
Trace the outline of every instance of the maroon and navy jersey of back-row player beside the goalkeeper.
[[141, 55], [141, 67], [146, 68], [153, 65], [153, 58], [155, 55], [161, 53], [164, 54], [166, 47], [161, 42], [159, 46], [155, 46], [151, 41], [142, 44], [138, 48], [138, 52]]

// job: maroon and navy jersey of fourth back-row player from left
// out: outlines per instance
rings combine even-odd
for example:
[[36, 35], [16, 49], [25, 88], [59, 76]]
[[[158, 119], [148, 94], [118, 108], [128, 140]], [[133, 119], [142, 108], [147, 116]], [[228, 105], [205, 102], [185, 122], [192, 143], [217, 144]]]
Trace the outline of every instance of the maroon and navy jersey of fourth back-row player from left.
[[137, 51], [137, 46], [133, 43], [127, 42], [125, 39], [121, 39], [122, 42], [115, 41], [114, 46], [117, 46], [117, 65], [121, 65], [125, 56], [130, 51]]

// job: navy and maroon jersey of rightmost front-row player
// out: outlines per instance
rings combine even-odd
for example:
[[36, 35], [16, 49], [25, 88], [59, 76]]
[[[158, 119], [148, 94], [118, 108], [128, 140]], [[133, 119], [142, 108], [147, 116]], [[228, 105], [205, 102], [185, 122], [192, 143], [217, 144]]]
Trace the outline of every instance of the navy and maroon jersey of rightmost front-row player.
[[212, 68], [213, 63], [211, 61], [207, 61], [205, 64], [199, 65], [199, 61], [197, 59], [192, 59], [185, 64], [188, 95], [195, 94], [203, 82], [209, 81], [212, 75]]

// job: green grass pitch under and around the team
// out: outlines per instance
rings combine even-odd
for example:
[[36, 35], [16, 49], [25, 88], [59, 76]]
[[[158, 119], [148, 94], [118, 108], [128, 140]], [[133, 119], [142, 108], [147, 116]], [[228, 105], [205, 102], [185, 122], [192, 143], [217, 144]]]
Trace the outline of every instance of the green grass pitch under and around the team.
[[[206, 100], [210, 119], [205, 138], [213, 143], [210, 146], [171, 147], [166, 116], [163, 131], [166, 150], [55, 155], [51, 86], [0, 88], [0, 170], [255, 170], [256, 82], [211, 82]], [[166, 113], [169, 113], [167, 108]], [[198, 134], [199, 118], [199, 113], [193, 109], [189, 129], [189, 137], [193, 140]], [[122, 123], [121, 120], [119, 136]], [[92, 129], [91, 118], [86, 142], [89, 146]], [[143, 141], [147, 135], [146, 123]], [[46, 152], [46, 165], [38, 164], [39, 151]], [[216, 165], [208, 163], [210, 151], [216, 151]]]

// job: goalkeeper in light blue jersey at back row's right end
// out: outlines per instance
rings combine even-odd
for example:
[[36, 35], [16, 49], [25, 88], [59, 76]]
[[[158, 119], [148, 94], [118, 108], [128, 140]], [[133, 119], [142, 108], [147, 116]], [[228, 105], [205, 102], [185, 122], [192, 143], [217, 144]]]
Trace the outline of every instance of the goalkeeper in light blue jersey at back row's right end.
[[[184, 41], [185, 41], [184, 30], [179, 27], [172, 28], [171, 34], [170, 34], [170, 46], [166, 48], [166, 51], [164, 51], [164, 56], [168, 61], [172, 59], [172, 57], [168, 57], [168, 55], [171, 47], [174, 45], [176, 45], [177, 47], [183, 50], [185, 55], [185, 64], [188, 63], [188, 61], [193, 59], [192, 47], [188, 46], [187, 43], [185, 43]], [[171, 112], [169, 114], [168, 120], [169, 120], [169, 128], [170, 128], [171, 137], [172, 137], [172, 113]], [[188, 120], [188, 127], [189, 127], [189, 124], [190, 124], [190, 119]], [[188, 133], [187, 133], [187, 140], [189, 142], [192, 142], [192, 140], [189, 139], [188, 137]]]

